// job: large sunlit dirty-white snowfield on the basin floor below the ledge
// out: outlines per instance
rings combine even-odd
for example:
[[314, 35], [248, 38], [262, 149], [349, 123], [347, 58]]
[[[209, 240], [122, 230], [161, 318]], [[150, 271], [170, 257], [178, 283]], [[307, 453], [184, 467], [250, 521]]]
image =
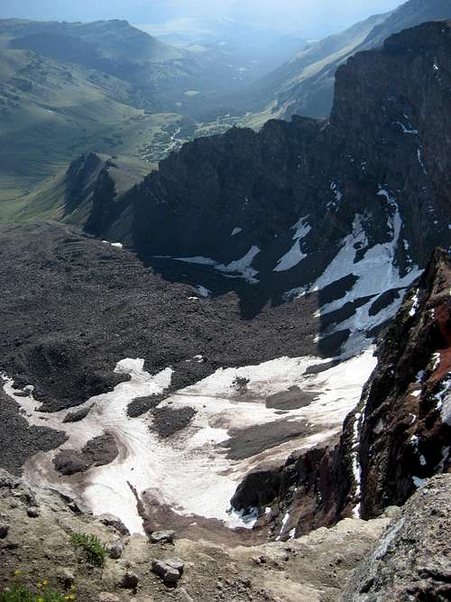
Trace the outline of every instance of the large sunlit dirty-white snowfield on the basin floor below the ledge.
[[[17, 395], [11, 378], [5, 378], [4, 387], [30, 424], [66, 431], [69, 440], [60, 449], [81, 449], [106, 431], [114, 435], [119, 449], [112, 463], [90, 468], [82, 477], [61, 477], [56, 472], [52, 459], [59, 450], [39, 452], [24, 466], [24, 476], [32, 485], [52, 486], [72, 495], [94, 514], [115, 514], [132, 533], [143, 533], [136, 495], [141, 497], [144, 491], [177, 514], [215, 518], [229, 528], [249, 527], [247, 517], [230, 512], [230, 499], [241, 479], [264, 460], [284, 460], [293, 449], [308, 449], [340, 431], [376, 364], [373, 349], [337, 365], [329, 361], [281, 357], [260, 366], [219, 369], [160, 403], [159, 407], [172, 410], [196, 411], [189, 426], [167, 438], [152, 430], [152, 411], [140, 418], [127, 416], [133, 399], [161, 394], [170, 385], [170, 368], [150, 375], [143, 369], [143, 359], [119, 362], [115, 371], [130, 375], [130, 380], [80, 406], [90, 407], [90, 412], [79, 422], [63, 423], [67, 410], [39, 412], [32, 394]], [[268, 402], [274, 395], [293, 391], [307, 395], [308, 403], [284, 410]], [[253, 428], [268, 425], [273, 433], [298, 423], [303, 428], [295, 429], [292, 437], [271, 438], [269, 447], [263, 445], [253, 455], [229, 453], [227, 441], [239, 440], [240, 433], [245, 449], [248, 442], [252, 446]]]

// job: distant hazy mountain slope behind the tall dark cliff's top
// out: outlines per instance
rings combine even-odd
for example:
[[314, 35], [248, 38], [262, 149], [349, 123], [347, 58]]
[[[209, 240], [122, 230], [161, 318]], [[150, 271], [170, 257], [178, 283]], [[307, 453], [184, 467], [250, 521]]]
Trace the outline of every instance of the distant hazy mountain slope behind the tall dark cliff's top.
[[393, 33], [449, 18], [451, 5], [447, 0], [408, 0], [392, 13], [374, 15], [312, 45], [263, 79], [257, 94], [273, 102], [274, 116], [328, 116], [336, 69], [345, 60], [355, 52], [381, 46]]

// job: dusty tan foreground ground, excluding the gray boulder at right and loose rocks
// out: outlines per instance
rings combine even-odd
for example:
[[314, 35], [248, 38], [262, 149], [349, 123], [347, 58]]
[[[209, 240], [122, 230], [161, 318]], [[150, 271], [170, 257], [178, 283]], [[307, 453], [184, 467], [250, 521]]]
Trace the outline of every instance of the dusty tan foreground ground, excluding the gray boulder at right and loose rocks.
[[[101, 592], [112, 602], [332, 602], [354, 566], [364, 557], [390, 519], [369, 523], [345, 520], [331, 530], [320, 529], [289, 543], [256, 547], [227, 547], [206, 542], [176, 540], [175, 545], [152, 545], [140, 535], [124, 537], [98, 519], [76, 514], [60, 495], [38, 491], [0, 473], [0, 519], [9, 533], [0, 540], [0, 588], [12, 582], [32, 585], [49, 579], [61, 588], [66, 569], [81, 602], [97, 602]], [[30, 517], [38, 505], [39, 516]], [[125, 544], [120, 560], [106, 560], [104, 569], [92, 569], [70, 543], [71, 533], [95, 533], [111, 544]], [[178, 556], [185, 571], [177, 588], [167, 588], [152, 574], [152, 559]], [[14, 570], [22, 571], [14, 576]], [[124, 573], [138, 578], [136, 591], [119, 587]]]

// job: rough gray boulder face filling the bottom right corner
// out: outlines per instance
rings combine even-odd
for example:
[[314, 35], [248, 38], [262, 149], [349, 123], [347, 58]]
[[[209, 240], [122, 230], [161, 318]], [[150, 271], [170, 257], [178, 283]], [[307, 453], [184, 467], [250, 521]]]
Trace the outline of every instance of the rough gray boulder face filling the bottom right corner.
[[355, 570], [342, 602], [445, 602], [451, 596], [451, 475], [431, 478]]

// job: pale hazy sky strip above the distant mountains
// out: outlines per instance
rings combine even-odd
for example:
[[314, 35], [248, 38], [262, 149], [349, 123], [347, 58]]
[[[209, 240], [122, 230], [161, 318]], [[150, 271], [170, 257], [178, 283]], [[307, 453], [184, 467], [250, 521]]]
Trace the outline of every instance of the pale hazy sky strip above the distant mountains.
[[266, 22], [283, 30], [319, 35], [340, 31], [400, 4], [402, 0], [0, 0], [0, 18], [117, 18], [131, 23], [161, 23], [180, 17], [211, 16]]

